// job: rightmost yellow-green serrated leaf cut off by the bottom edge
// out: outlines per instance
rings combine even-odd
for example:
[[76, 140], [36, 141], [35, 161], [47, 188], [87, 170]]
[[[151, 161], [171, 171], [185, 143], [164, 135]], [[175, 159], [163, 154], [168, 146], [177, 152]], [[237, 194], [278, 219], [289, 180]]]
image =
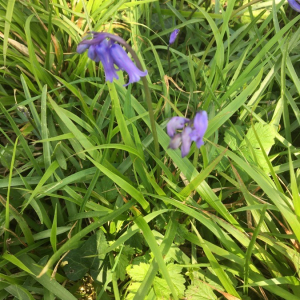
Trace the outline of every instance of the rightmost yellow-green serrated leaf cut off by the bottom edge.
[[200, 280], [195, 280], [185, 292], [186, 300], [216, 300], [213, 289]]

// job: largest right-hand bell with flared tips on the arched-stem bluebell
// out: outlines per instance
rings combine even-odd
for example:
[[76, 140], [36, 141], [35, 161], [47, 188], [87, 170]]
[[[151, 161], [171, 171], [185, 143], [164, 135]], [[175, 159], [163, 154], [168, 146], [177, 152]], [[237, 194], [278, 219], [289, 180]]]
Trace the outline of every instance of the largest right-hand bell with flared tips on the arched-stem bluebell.
[[124, 86], [127, 86], [128, 84], [133, 82], [137, 82], [141, 79], [141, 77], [147, 75], [148, 72], [141, 71], [128, 57], [128, 54], [119, 44], [113, 44], [110, 47], [110, 55], [115, 65], [129, 75], [129, 81]]

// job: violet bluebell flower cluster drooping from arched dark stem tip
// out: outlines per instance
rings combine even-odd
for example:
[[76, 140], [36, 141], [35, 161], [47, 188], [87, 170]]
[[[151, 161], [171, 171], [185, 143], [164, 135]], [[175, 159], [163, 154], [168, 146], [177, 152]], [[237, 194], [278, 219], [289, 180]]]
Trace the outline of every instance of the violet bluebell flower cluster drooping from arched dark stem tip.
[[93, 38], [88, 39], [91, 35], [85, 37], [78, 44], [76, 51], [81, 54], [88, 50], [90, 59], [101, 62], [107, 81], [113, 82], [114, 78], [119, 79], [117, 71], [120, 70], [129, 75], [129, 81], [124, 86], [137, 82], [141, 77], [147, 75], [147, 70], [141, 71], [118, 44], [126, 43], [122, 38], [107, 32], [92, 32], [91, 34], [93, 34]]

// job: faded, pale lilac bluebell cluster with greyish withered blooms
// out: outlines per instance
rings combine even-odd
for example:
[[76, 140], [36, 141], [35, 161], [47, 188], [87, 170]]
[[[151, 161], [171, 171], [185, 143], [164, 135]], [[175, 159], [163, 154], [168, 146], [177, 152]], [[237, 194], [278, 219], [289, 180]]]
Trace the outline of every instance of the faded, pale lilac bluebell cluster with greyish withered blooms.
[[[177, 149], [181, 145], [181, 156], [185, 157], [189, 154], [193, 141], [198, 148], [204, 144], [203, 136], [207, 126], [208, 117], [204, 110], [198, 111], [193, 120], [183, 117], [171, 118], [167, 124], [167, 133], [171, 138], [169, 148]], [[177, 133], [178, 129], [182, 131]]]

